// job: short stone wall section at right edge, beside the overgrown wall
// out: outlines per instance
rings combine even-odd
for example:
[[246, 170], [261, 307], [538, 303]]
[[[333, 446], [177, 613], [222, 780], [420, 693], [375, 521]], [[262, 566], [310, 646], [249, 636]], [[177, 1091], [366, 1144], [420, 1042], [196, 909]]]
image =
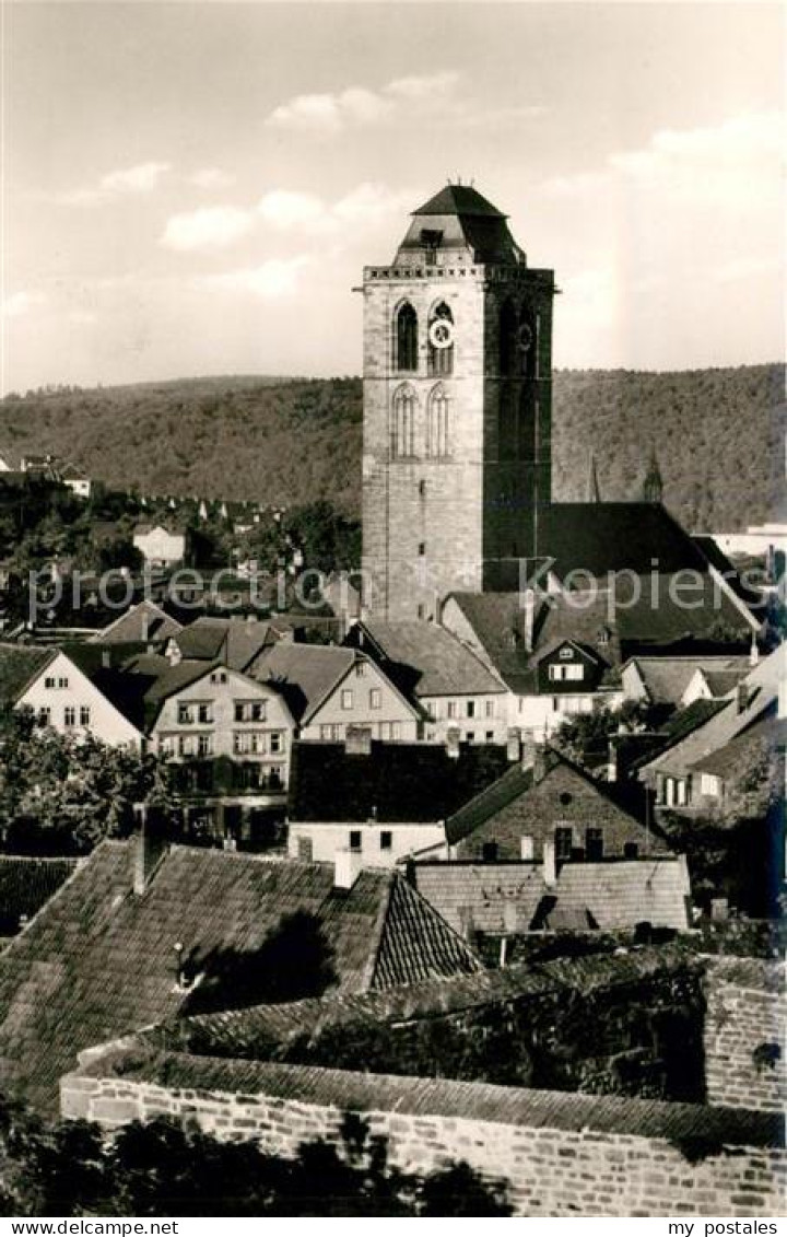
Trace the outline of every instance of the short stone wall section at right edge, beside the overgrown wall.
[[705, 999], [708, 1102], [783, 1112], [787, 998], [781, 964], [708, 959]]

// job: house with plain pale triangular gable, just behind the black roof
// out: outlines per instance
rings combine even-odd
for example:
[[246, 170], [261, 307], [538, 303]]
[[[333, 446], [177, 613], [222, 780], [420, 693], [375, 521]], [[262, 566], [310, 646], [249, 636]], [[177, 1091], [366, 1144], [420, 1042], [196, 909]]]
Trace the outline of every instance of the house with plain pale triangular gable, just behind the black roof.
[[341, 742], [348, 727], [372, 738], [411, 742], [423, 714], [371, 657], [353, 648], [280, 641], [255, 664], [253, 675], [289, 704], [301, 738]]

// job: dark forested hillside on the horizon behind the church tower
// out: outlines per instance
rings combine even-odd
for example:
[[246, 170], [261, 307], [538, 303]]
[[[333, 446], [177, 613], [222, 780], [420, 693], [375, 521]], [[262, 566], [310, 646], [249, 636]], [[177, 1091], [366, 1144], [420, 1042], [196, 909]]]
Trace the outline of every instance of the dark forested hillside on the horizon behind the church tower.
[[[785, 476], [785, 366], [555, 376], [553, 492], [639, 497], [651, 444], [665, 501], [691, 528], [772, 518]], [[357, 379], [194, 379], [35, 392], [0, 403], [0, 454], [46, 453], [109, 485], [357, 512]]]

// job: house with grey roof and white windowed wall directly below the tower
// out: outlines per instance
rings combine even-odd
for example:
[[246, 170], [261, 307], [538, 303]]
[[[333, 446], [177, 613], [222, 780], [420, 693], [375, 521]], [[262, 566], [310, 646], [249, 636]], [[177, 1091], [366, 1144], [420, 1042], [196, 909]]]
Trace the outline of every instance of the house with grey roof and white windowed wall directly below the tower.
[[436, 623], [371, 618], [353, 623], [345, 643], [368, 653], [425, 716], [424, 737], [444, 742], [507, 742], [507, 688], [479, 657]]

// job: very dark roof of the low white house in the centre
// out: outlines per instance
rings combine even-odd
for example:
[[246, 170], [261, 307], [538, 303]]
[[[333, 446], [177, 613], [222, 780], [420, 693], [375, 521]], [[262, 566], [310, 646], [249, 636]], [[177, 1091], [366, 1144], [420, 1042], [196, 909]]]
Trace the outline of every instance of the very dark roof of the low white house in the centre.
[[463, 743], [451, 757], [437, 743], [372, 742], [369, 755], [343, 743], [293, 745], [288, 816], [303, 821], [439, 821], [508, 768], [502, 745]]

